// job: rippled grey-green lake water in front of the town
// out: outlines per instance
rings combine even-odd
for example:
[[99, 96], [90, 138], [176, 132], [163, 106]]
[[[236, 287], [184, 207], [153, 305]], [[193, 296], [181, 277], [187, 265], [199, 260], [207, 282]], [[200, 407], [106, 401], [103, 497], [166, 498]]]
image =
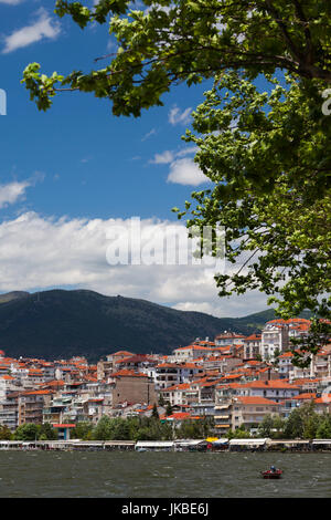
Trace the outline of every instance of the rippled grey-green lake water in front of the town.
[[2, 451], [0, 497], [330, 498], [331, 454]]

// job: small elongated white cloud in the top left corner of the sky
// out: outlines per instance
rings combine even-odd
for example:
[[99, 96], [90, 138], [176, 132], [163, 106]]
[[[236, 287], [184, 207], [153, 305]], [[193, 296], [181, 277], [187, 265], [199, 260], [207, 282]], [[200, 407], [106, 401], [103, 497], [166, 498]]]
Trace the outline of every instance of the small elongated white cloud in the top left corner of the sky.
[[34, 23], [18, 29], [4, 38], [3, 54], [31, 45], [44, 38], [54, 40], [60, 34], [60, 23], [54, 22], [45, 9], [41, 8], [35, 14], [38, 18]]

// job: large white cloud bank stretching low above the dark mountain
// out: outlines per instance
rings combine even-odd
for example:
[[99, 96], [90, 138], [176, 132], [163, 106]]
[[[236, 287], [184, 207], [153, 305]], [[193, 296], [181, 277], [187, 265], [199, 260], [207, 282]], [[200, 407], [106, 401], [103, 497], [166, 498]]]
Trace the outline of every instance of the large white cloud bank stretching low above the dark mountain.
[[[259, 293], [254, 298], [243, 297], [241, 305], [218, 299], [213, 267], [110, 266], [106, 261], [111, 243], [107, 232], [117, 227], [128, 228], [130, 222], [130, 219], [43, 218], [35, 212], [3, 221], [0, 223], [0, 291], [85, 288], [214, 315], [244, 315], [265, 308], [265, 298]], [[158, 239], [170, 222], [146, 219], [140, 223], [146, 250], [150, 246], [148, 240]], [[171, 229], [186, 232], [181, 223], [171, 223]], [[124, 235], [119, 236], [121, 246]]]

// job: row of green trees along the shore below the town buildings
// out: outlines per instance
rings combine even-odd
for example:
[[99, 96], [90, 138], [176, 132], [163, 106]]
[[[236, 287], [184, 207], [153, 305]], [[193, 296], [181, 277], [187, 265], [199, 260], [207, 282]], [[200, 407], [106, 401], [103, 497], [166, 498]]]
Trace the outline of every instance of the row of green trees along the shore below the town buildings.
[[[202, 439], [214, 436], [213, 420], [183, 420], [180, 426], [157, 417], [108, 417], [104, 416], [96, 425], [77, 423], [71, 431], [72, 439], [81, 440], [173, 440]], [[288, 418], [266, 415], [252, 435], [243, 426], [227, 434], [232, 438], [271, 439], [331, 439], [331, 414], [317, 414], [313, 404], [305, 404], [293, 409]], [[57, 431], [50, 424], [24, 424], [14, 433], [0, 425], [0, 440], [56, 440]]]

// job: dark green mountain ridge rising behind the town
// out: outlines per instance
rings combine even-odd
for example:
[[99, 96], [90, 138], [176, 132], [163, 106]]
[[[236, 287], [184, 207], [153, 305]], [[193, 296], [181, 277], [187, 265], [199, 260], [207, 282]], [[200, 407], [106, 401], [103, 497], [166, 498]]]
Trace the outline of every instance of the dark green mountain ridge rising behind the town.
[[271, 310], [215, 318], [87, 290], [12, 292], [0, 295], [0, 349], [12, 357], [84, 355], [90, 362], [118, 350], [169, 354], [224, 330], [250, 334], [273, 318]]

